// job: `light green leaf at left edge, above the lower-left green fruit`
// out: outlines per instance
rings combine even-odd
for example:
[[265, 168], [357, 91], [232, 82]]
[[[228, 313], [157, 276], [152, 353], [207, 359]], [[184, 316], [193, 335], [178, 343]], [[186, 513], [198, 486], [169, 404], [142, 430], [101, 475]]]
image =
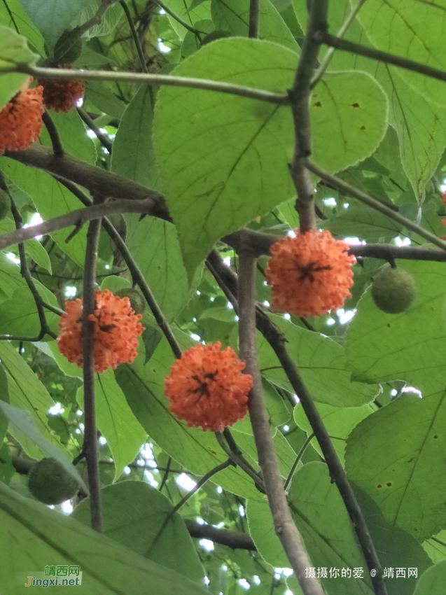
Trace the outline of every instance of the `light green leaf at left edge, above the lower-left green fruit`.
[[[25, 409], [31, 417], [34, 426], [50, 444], [59, 451], [63, 451], [57, 437], [48, 427], [47, 413], [55, 405], [45, 386], [36, 377], [29, 365], [23, 360], [10, 342], [0, 341], [0, 358], [4, 370], [8, 372], [8, 388], [11, 405]], [[41, 447], [23, 432], [18, 426], [10, 424], [9, 431], [22, 445], [28, 456], [42, 458], [45, 456]]]

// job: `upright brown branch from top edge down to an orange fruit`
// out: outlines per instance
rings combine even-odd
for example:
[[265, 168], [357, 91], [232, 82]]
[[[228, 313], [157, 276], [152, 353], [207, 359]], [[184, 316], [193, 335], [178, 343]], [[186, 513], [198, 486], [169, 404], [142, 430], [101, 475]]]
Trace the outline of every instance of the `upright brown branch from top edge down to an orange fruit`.
[[320, 43], [314, 40], [314, 31], [327, 28], [328, 0], [314, 0], [308, 17], [298, 69], [295, 73], [293, 88], [290, 91], [291, 112], [294, 120], [295, 147], [290, 173], [293, 178], [298, 200], [295, 208], [299, 214], [300, 232], [316, 229], [314, 212], [314, 183], [305, 168], [304, 160], [312, 152], [311, 130], [309, 123], [310, 83], [316, 68]]

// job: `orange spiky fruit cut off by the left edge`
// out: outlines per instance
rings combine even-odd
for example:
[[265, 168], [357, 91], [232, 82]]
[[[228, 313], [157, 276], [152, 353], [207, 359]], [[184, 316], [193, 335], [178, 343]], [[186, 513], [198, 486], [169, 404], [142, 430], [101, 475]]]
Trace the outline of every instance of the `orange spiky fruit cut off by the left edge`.
[[39, 138], [42, 129], [42, 87], [28, 89], [29, 83], [0, 111], [0, 155], [24, 151]]

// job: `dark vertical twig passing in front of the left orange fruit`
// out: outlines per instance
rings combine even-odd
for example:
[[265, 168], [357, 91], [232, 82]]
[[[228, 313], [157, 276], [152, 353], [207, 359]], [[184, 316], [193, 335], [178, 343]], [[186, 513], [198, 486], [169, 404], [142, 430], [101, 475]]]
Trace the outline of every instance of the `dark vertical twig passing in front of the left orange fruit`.
[[94, 323], [89, 320], [88, 316], [96, 308], [95, 278], [100, 230], [100, 218], [92, 221], [88, 227], [87, 246], [85, 248], [82, 315], [83, 414], [85, 423], [83, 453], [87, 462], [88, 488], [90, 489], [91, 526], [95, 531], [102, 531], [102, 506], [95, 411]]

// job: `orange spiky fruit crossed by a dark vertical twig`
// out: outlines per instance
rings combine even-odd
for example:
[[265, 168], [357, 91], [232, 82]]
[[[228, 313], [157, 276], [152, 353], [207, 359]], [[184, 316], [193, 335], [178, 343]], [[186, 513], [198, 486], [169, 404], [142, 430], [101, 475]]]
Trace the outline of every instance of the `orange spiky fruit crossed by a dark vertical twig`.
[[[60, 318], [59, 350], [69, 362], [83, 366], [82, 300], [65, 304], [66, 314]], [[94, 324], [93, 354], [95, 372], [104, 372], [120, 363], [132, 363], [137, 356], [138, 335], [144, 330], [128, 297], [118, 297], [110, 290], [96, 291], [96, 309], [88, 316]]]

